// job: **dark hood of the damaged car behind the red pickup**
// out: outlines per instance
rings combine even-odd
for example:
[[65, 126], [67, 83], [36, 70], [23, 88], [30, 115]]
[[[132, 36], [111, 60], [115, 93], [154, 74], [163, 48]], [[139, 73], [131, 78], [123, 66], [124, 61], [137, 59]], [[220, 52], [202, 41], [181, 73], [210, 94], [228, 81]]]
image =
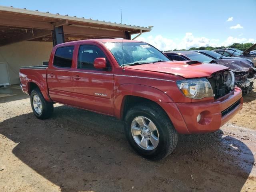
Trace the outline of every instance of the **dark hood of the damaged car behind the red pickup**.
[[215, 59], [217, 64], [224, 65], [234, 72], [248, 71], [250, 63], [241, 59]]

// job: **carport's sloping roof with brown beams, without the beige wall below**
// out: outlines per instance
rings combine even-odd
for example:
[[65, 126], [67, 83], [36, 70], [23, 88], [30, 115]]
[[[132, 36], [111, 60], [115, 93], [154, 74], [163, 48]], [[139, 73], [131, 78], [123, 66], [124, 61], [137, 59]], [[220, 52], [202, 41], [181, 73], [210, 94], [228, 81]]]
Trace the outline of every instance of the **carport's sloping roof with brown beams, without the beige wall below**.
[[89, 38], [125, 38], [150, 28], [117, 24], [76, 16], [0, 6], [0, 46], [36, 40], [55, 44]]

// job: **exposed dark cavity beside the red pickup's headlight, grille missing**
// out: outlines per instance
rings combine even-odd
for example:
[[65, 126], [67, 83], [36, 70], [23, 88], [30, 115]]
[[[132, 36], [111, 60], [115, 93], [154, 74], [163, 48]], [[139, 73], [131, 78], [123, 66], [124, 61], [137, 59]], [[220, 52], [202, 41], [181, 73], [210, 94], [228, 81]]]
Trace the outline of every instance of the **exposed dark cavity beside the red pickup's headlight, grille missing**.
[[231, 70], [218, 71], [212, 74], [208, 81], [212, 86], [215, 99], [230, 93], [235, 87], [235, 76]]

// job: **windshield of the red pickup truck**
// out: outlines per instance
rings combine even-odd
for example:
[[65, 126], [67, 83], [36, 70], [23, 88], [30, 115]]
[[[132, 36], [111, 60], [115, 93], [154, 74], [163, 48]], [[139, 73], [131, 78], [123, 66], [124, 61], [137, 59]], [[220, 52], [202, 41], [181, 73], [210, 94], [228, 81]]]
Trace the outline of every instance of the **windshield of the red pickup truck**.
[[170, 61], [162, 52], [143, 42], [107, 42], [105, 46], [120, 66]]

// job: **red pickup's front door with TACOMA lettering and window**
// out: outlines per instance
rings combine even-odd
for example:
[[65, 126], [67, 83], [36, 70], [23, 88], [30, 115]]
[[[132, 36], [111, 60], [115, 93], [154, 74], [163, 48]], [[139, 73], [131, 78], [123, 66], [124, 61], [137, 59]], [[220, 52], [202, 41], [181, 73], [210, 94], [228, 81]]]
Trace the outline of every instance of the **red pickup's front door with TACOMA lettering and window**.
[[[97, 44], [81, 44], [73, 72], [77, 107], [113, 115], [114, 72], [107, 54]], [[96, 58], [106, 58], [108, 69], [94, 68]]]

